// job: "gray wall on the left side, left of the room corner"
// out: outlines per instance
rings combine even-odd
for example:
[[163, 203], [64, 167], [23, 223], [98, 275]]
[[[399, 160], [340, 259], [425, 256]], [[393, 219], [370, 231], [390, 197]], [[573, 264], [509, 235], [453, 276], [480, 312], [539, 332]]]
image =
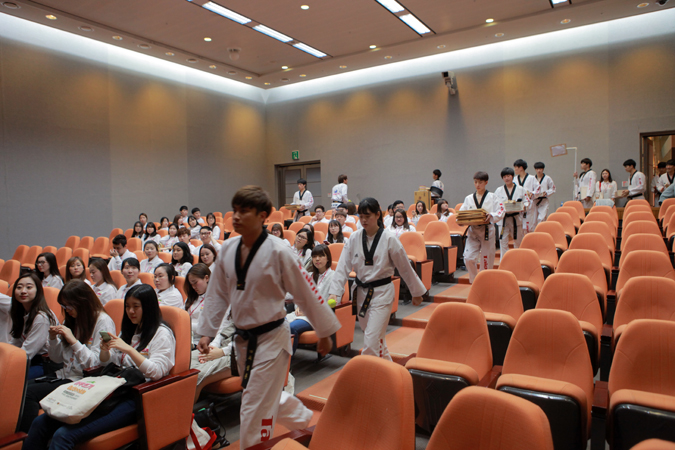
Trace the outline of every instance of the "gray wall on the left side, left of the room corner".
[[265, 188], [262, 103], [0, 39], [0, 258]]

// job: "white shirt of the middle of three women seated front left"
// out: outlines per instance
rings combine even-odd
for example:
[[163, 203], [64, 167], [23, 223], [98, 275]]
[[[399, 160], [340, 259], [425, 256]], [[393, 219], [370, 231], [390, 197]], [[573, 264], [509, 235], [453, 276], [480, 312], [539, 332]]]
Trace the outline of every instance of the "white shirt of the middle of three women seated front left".
[[86, 345], [83, 345], [80, 341], [75, 342], [73, 345], [68, 345], [65, 339], [61, 339], [61, 336], [49, 340], [49, 359], [55, 363], [63, 363], [63, 368], [56, 372], [59, 379], [77, 381], [83, 377], [82, 372], [84, 369], [101, 364], [99, 359], [101, 353], [101, 331], [117, 335], [115, 322], [105, 312], [101, 312], [98, 315], [94, 331]]

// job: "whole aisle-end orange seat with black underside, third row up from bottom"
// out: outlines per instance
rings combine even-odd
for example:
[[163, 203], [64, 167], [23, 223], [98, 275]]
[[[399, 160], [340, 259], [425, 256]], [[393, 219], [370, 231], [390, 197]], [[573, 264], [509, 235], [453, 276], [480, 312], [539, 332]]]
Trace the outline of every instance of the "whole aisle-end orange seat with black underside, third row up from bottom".
[[485, 314], [492, 363], [501, 366], [513, 330], [523, 314], [523, 301], [516, 276], [506, 270], [481, 270], [473, 280], [466, 302], [478, 306]]

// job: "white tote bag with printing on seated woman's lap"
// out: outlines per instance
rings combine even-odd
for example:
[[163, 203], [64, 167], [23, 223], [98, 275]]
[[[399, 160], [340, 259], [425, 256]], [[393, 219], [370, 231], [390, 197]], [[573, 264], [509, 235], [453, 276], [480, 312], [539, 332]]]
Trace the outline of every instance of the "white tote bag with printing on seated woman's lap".
[[74, 424], [89, 417], [115, 389], [125, 384], [124, 378], [87, 377], [57, 387], [40, 401], [45, 413], [56, 420]]

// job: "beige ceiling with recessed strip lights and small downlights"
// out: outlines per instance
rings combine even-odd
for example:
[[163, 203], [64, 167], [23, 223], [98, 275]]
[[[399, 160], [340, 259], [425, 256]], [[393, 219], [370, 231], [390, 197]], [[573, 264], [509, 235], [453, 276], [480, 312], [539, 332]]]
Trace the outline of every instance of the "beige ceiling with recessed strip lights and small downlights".
[[[216, 2], [329, 56], [317, 59], [216, 15], [197, 1], [12, 0], [19, 8], [11, 9], [10, 2], [0, 2], [0, 12], [253, 86], [273, 88], [675, 6], [675, 0], [665, 6], [649, 0], [643, 8], [637, 7], [640, 0], [572, 0], [572, 5], [555, 8], [549, 0], [401, 0], [434, 31], [422, 37], [375, 0]], [[301, 5], [309, 9], [302, 10]], [[57, 20], [45, 17], [50, 14]], [[488, 18], [494, 23], [487, 24]], [[570, 22], [561, 24], [564, 19]], [[82, 31], [82, 26], [93, 31]], [[123, 39], [114, 40], [112, 36]], [[204, 37], [212, 41], [205, 42]], [[150, 48], [139, 48], [140, 44], [149, 44]], [[377, 48], [371, 50], [370, 45]], [[229, 58], [229, 48], [241, 49], [238, 60]], [[173, 55], [167, 56], [167, 52]], [[197, 61], [189, 63], [188, 59]], [[282, 66], [289, 69], [282, 70]]]

